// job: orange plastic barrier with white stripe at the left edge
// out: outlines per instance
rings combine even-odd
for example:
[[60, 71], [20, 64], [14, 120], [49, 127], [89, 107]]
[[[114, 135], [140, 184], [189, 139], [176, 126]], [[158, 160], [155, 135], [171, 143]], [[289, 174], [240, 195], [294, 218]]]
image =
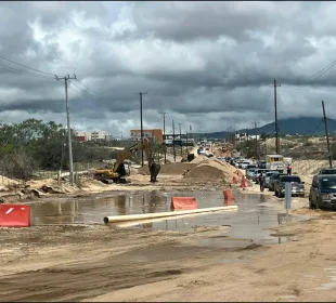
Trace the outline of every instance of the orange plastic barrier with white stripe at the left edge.
[[0, 205], [0, 226], [29, 227], [30, 207], [25, 205]]

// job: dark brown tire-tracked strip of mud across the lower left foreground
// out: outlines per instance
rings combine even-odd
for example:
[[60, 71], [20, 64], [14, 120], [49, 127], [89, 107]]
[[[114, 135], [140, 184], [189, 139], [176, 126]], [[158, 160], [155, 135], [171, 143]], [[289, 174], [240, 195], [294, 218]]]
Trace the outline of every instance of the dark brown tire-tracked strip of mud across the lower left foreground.
[[[218, 253], [219, 250], [215, 251]], [[72, 263], [9, 275], [0, 278], [1, 301], [78, 302], [111, 291], [150, 285], [202, 271], [202, 267], [192, 266], [192, 263], [188, 264], [185, 261], [197, 256], [207, 258], [209, 253], [214, 253], [214, 249], [166, 243], [100, 260], [92, 256], [87, 263]]]

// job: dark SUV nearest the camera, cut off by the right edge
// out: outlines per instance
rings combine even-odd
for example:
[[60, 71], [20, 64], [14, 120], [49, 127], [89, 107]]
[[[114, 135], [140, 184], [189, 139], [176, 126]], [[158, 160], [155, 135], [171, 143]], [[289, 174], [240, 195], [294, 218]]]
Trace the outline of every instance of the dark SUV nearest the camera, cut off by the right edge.
[[309, 192], [309, 208], [336, 208], [336, 175], [313, 176]]

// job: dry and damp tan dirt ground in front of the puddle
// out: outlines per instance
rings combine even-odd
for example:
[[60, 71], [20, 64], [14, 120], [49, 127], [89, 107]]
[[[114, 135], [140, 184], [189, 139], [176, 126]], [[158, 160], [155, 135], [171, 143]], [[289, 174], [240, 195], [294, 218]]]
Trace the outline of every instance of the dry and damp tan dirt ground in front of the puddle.
[[225, 237], [224, 226], [1, 228], [1, 300], [332, 302], [336, 222], [316, 219], [272, 228], [281, 245], [228, 238], [225, 248], [201, 245]]

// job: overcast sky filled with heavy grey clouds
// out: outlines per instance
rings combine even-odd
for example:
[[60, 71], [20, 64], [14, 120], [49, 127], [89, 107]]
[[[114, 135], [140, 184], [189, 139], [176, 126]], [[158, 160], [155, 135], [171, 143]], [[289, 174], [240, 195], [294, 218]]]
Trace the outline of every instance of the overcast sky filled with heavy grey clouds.
[[[119, 136], [335, 115], [334, 2], [0, 2], [0, 122], [27, 118]], [[5, 60], [7, 58], [7, 60]], [[34, 69], [28, 69], [22, 65]], [[39, 71], [38, 71], [39, 70]], [[333, 77], [335, 75], [335, 77]], [[335, 113], [333, 113], [333, 110]]]

